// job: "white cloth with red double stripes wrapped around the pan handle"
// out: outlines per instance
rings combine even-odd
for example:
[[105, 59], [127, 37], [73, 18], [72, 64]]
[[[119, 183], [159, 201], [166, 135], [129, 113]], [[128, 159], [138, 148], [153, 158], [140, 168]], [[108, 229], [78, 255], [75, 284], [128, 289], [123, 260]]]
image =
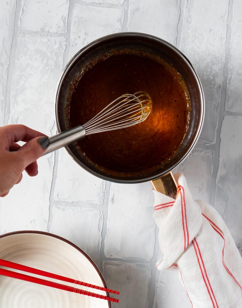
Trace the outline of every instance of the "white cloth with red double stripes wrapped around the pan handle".
[[158, 270], [175, 270], [193, 308], [242, 307], [242, 258], [218, 212], [193, 200], [176, 173], [176, 200], [154, 191], [154, 220], [164, 255]]

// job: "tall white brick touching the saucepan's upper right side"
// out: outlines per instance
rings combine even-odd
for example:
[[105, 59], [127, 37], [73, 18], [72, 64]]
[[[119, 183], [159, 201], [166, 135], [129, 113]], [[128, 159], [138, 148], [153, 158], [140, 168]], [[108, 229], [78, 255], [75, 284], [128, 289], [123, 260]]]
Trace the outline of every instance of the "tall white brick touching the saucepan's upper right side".
[[201, 140], [215, 143], [225, 62], [227, 0], [185, 1], [180, 50], [188, 57], [205, 92]]

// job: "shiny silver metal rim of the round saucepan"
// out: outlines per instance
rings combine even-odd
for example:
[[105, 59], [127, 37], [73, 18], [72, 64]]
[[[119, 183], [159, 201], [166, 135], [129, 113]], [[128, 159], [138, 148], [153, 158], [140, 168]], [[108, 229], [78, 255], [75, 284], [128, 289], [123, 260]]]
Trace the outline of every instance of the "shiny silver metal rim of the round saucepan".
[[109, 35], [105, 35], [99, 39], [96, 39], [95, 41], [87, 44], [86, 46], [84, 46], [83, 48], [80, 49], [80, 51], [78, 51], [71, 59], [70, 61], [67, 63], [67, 65], [65, 66], [62, 74], [60, 75], [60, 79], [58, 81], [57, 84], [57, 89], [56, 89], [56, 93], [55, 93], [55, 99], [54, 99], [54, 115], [55, 115], [55, 122], [56, 122], [56, 126], [57, 126], [57, 132], [60, 133], [61, 129], [60, 129], [60, 121], [59, 121], [59, 116], [58, 116], [58, 97], [61, 91], [61, 85], [64, 81], [65, 76], [68, 74], [68, 71], [70, 69], [70, 67], [72, 66], [72, 63], [74, 63], [76, 61], [76, 59], [78, 57], [80, 57], [84, 52], [86, 52], [90, 47], [95, 47], [95, 45], [100, 44], [100, 43], [105, 43], [105, 41], [109, 40], [109, 39], [115, 39], [115, 38], [122, 38], [122, 37], [132, 37], [132, 36], [136, 36], [136, 37], [140, 37], [140, 38], [145, 38], [145, 39], [152, 39], [154, 41], [157, 41], [159, 43], [165, 44], [167, 47], [169, 47], [170, 49], [172, 49], [173, 51], [175, 51], [176, 53], [179, 54], [179, 56], [181, 57], [181, 59], [188, 65], [188, 67], [190, 68], [191, 73], [193, 74], [194, 79], [196, 80], [197, 86], [198, 86], [198, 91], [199, 91], [199, 97], [201, 99], [201, 108], [200, 108], [200, 117], [198, 117], [198, 123], [197, 123], [197, 127], [198, 129], [196, 130], [195, 134], [193, 135], [193, 141], [190, 144], [190, 146], [186, 149], [184, 155], [172, 166], [170, 166], [169, 168], [166, 168], [164, 171], [158, 172], [156, 175], [150, 175], [150, 176], [143, 176], [142, 178], [131, 178], [131, 179], [123, 179], [123, 178], [116, 178], [116, 177], [112, 177], [109, 175], [103, 175], [99, 172], [97, 172], [96, 170], [93, 170], [92, 168], [90, 168], [87, 164], [84, 164], [83, 162], [81, 162], [74, 153], [72, 153], [71, 149], [69, 148], [69, 146], [66, 146], [65, 149], [67, 150], [68, 154], [72, 157], [72, 159], [79, 164], [84, 170], [86, 170], [87, 172], [91, 173], [92, 175], [95, 175], [99, 178], [101, 178], [102, 180], [108, 180], [114, 183], [127, 183], [127, 184], [132, 184], [132, 183], [143, 183], [146, 181], [150, 181], [150, 180], [155, 180], [158, 179], [162, 176], [165, 176], [166, 174], [168, 174], [169, 172], [171, 172], [174, 168], [176, 168], [178, 165], [180, 165], [185, 159], [186, 157], [191, 153], [191, 151], [193, 150], [195, 144], [197, 143], [197, 140], [201, 134], [201, 130], [203, 127], [203, 123], [204, 123], [204, 117], [205, 117], [205, 97], [204, 97], [204, 93], [203, 93], [203, 89], [202, 89], [202, 85], [201, 85], [201, 81], [197, 75], [197, 72], [194, 70], [191, 62], [189, 61], [189, 59], [187, 59], [187, 57], [175, 46], [173, 46], [172, 44], [166, 42], [165, 40], [158, 38], [157, 36], [151, 35], [151, 34], [145, 34], [145, 33], [140, 33], [140, 32], [120, 32], [120, 33], [115, 33], [115, 34], [109, 34]]

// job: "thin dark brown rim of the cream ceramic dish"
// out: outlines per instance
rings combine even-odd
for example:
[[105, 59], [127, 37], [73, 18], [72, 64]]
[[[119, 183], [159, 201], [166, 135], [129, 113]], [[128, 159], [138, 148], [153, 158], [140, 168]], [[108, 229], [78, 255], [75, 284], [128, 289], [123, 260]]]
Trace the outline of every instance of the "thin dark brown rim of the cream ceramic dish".
[[[78, 246], [76, 246], [75, 244], [73, 244], [72, 242], [66, 240], [65, 238], [63, 237], [60, 237], [58, 235], [55, 235], [53, 233], [48, 233], [48, 232], [44, 232], [44, 231], [35, 231], [35, 230], [21, 230], [21, 231], [13, 231], [13, 232], [8, 232], [8, 233], [4, 233], [4, 234], [1, 234], [0, 235], [0, 238], [2, 237], [6, 237], [6, 236], [9, 236], [9, 235], [15, 235], [15, 234], [21, 234], [21, 233], [24, 233], [24, 234], [28, 234], [28, 233], [32, 233], [32, 234], [42, 234], [42, 235], [47, 235], [47, 236], [50, 236], [50, 237], [54, 237], [58, 240], [61, 240], [69, 245], [71, 245], [72, 247], [74, 247], [76, 250], [78, 250], [80, 253], [82, 253], [84, 255], [84, 257], [86, 257], [88, 259], [88, 261], [92, 264], [92, 266], [94, 267], [94, 269], [97, 271], [99, 277], [101, 278], [102, 282], [103, 282], [103, 286], [104, 288], [107, 288], [107, 285], [106, 285], [106, 282], [103, 278], [103, 275], [102, 273], [100, 272], [99, 268], [97, 267], [96, 263], [88, 256], [87, 253], [85, 253], [82, 249], [80, 249]], [[108, 292], [106, 292], [107, 296], [110, 296]], [[111, 302], [108, 301], [108, 307], [111, 308]]]

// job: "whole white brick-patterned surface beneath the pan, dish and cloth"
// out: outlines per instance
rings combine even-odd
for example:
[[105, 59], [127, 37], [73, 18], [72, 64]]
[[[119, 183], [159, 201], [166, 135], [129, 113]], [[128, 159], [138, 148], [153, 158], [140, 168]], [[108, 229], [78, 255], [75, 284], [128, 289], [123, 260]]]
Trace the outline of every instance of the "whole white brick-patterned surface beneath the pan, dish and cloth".
[[[54, 134], [61, 71], [92, 40], [120, 31], [167, 40], [197, 70], [206, 103], [200, 141], [176, 170], [185, 174], [194, 198], [224, 215], [242, 254], [241, 10], [240, 0], [4, 0], [0, 124]], [[73, 241], [99, 264], [108, 285], [122, 292], [119, 307], [190, 306], [177, 276], [155, 268], [159, 247], [150, 183], [105, 182], [63, 149], [38, 164], [35, 178], [24, 174], [0, 200], [1, 233], [33, 229]]]

